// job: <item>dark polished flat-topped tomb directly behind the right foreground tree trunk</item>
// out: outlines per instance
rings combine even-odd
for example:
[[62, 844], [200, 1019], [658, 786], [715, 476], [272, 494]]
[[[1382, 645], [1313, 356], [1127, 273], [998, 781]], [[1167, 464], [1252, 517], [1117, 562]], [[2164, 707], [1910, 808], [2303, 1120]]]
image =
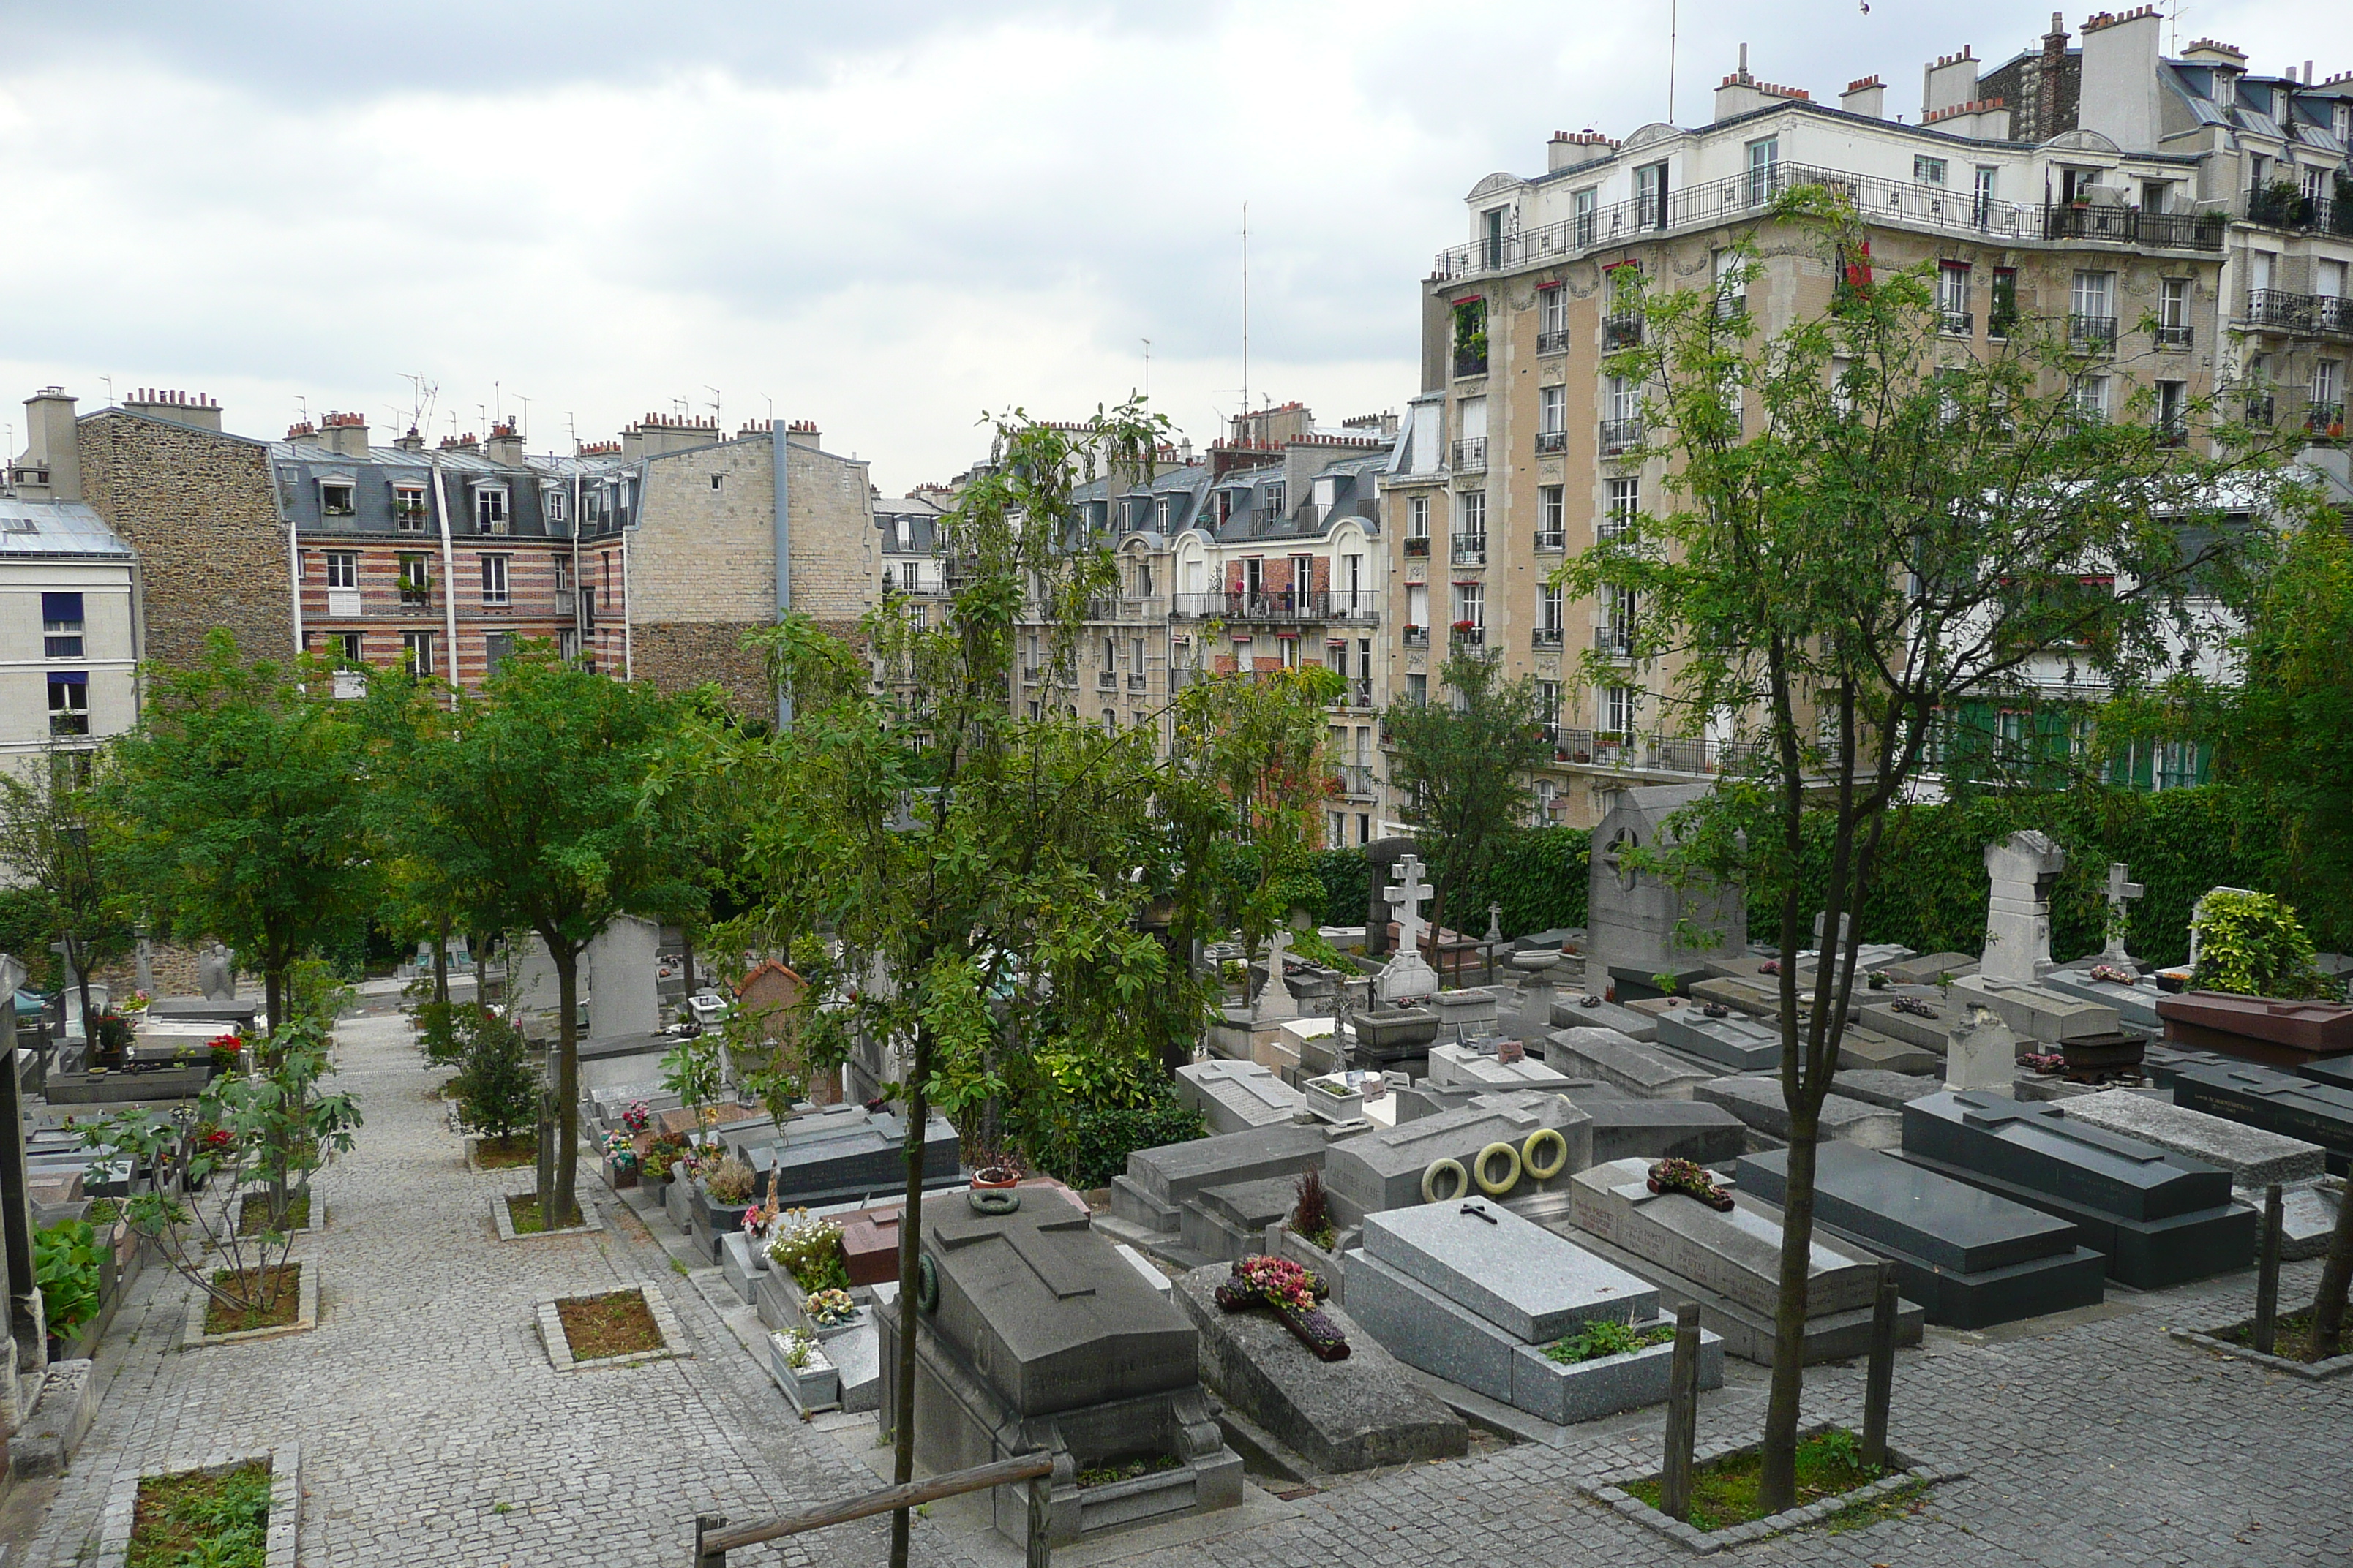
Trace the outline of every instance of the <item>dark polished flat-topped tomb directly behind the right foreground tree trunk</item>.
[[[1788, 1150], [1734, 1168], [1751, 1197], [1788, 1190]], [[1944, 1328], [1991, 1328], [2097, 1305], [2108, 1262], [2075, 1227], [1892, 1154], [1826, 1143], [1814, 1164], [1814, 1222], [1897, 1265], [1906, 1300]]]

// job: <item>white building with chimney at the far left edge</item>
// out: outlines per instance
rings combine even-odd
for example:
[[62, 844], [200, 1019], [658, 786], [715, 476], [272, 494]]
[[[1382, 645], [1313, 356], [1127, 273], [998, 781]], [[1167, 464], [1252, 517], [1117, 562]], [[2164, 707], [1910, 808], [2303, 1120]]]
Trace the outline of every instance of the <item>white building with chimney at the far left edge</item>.
[[26, 414], [0, 489], [0, 766], [87, 750], [139, 717], [132, 550], [82, 501], [73, 402], [45, 388]]

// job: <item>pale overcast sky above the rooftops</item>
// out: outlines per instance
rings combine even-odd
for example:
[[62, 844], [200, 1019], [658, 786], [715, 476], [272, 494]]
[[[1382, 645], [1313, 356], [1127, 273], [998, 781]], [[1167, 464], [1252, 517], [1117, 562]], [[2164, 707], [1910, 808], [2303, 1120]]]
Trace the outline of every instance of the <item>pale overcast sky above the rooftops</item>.
[[[1758, 16], [1772, 16], [1769, 24]], [[2080, 28], [2082, 12], [2068, 12]], [[1678, 120], [1741, 40], [1835, 103], [2000, 63], [2049, 5], [1682, 0]], [[2353, 71], [2353, 5], [2181, 5], [2257, 71]], [[1555, 129], [1666, 118], [1668, 2], [205, 5], [0, 0], [0, 418], [106, 376], [569, 451], [645, 411], [812, 418], [901, 491], [984, 409], [1146, 381], [1198, 442], [1242, 390], [1402, 409], [1464, 193]], [[718, 388], [715, 393], [711, 388]], [[525, 402], [527, 400], [527, 402]]]

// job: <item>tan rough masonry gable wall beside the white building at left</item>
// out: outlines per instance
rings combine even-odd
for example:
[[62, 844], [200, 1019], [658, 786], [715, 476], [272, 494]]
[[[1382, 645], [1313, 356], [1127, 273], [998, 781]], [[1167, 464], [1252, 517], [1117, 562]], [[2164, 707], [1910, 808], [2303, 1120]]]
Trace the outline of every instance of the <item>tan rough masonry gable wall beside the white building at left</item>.
[[82, 494], [139, 552], [146, 656], [191, 663], [226, 628], [245, 658], [294, 651], [268, 447], [134, 414], [78, 425]]

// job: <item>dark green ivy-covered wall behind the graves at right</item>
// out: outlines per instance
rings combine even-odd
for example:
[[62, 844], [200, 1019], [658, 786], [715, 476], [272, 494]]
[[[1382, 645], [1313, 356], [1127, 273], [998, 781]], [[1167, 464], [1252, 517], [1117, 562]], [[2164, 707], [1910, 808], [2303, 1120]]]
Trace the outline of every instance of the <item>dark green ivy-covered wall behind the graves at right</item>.
[[[2097, 952], [2106, 940], [2108, 863], [2122, 860], [2146, 893], [2132, 905], [2132, 952], [2177, 964], [2188, 957], [2191, 905], [2212, 886], [2278, 893], [2297, 905], [2313, 943], [2353, 952], [2353, 889], [2304, 886], [2280, 818], [2245, 788], [2061, 790], [1988, 795], [1906, 806], [1889, 823], [1878, 893], [1864, 910], [1864, 938], [1918, 952], [1979, 952], [1986, 940], [1986, 844], [2040, 827], [2068, 853], [2052, 891], [2052, 954]], [[1814, 865], [1828, 865], [1828, 820], [1809, 823]], [[1487, 903], [1504, 905], [1504, 933], [1586, 924], [1586, 849], [1579, 827], [1534, 827], [1511, 837], [1494, 872], [1464, 896], [1464, 924], [1485, 931]], [[1315, 856], [1325, 886], [1322, 919], [1365, 919], [1367, 863], [1360, 849]], [[1819, 884], [1819, 870], [1814, 882]], [[1807, 907], [1821, 900], [1809, 898]], [[1748, 931], [1769, 938], [1779, 907], [1751, 903]], [[1812, 919], [1805, 922], [1812, 933]]]

